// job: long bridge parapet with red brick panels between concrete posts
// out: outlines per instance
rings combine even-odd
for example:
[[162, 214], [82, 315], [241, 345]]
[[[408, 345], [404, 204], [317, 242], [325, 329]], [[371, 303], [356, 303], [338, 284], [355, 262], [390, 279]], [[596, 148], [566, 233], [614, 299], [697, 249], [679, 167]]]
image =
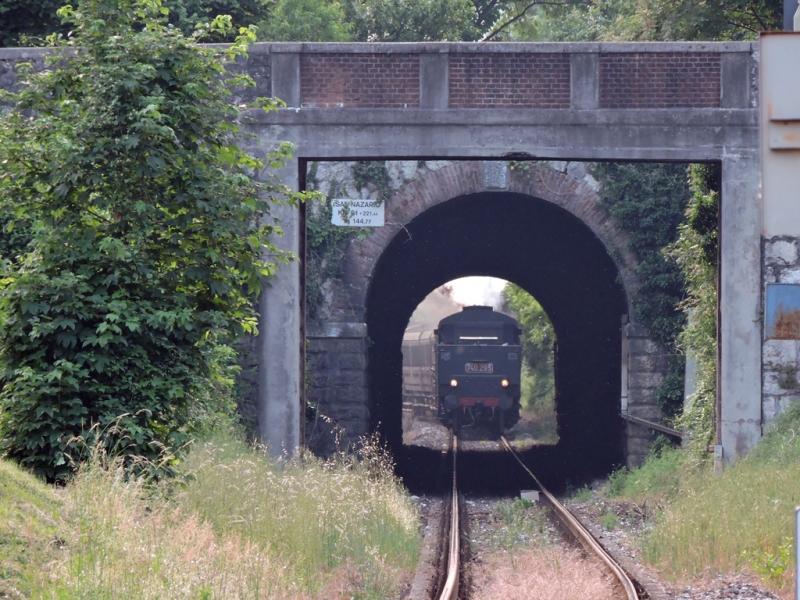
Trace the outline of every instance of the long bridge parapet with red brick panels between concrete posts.
[[[597, 84], [601, 108], [748, 108], [755, 98], [755, 49], [750, 42], [259, 43], [233, 67], [251, 75], [256, 87], [233, 100], [284, 97], [289, 82], [296, 83], [297, 104], [309, 108], [586, 110], [596, 107], [584, 96]], [[16, 64], [41, 63], [46, 54], [0, 49], [0, 86], [14, 88]], [[280, 56], [297, 58], [275, 59]], [[424, 64], [421, 56], [428, 57]], [[741, 73], [748, 66], [752, 72]], [[272, 72], [279, 67], [292, 72]]]

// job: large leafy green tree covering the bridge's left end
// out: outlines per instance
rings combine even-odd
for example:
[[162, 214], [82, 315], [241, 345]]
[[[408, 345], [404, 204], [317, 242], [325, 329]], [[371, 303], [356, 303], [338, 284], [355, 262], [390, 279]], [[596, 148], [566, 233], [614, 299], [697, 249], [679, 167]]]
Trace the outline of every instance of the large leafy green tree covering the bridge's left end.
[[[274, 198], [297, 202], [237, 146], [251, 86], [225, 64], [246, 49], [200, 47], [165, 26], [158, 0], [84, 0], [61, 15], [49, 68], [5, 93], [0, 211], [33, 239], [0, 287], [0, 444], [49, 479], [69, 440], [119, 422], [126, 453], [178, 447], [219, 408], [221, 342], [253, 332], [253, 298], [290, 257], [270, 242]], [[20, 66], [22, 69], [22, 66]], [[272, 101], [259, 105], [270, 109]], [[253, 175], [259, 174], [260, 178]]]

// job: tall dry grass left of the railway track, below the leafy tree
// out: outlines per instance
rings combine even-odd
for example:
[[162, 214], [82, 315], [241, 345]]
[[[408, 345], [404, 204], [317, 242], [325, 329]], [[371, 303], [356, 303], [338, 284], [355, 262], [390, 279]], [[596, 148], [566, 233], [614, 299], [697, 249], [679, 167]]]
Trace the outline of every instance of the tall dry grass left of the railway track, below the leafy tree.
[[225, 438], [183, 469], [152, 484], [96, 449], [59, 500], [45, 498], [52, 522], [28, 545], [39, 548], [28, 597], [377, 600], [397, 597], [414, 567], [417, 512], [374, 444], [273, 461]]

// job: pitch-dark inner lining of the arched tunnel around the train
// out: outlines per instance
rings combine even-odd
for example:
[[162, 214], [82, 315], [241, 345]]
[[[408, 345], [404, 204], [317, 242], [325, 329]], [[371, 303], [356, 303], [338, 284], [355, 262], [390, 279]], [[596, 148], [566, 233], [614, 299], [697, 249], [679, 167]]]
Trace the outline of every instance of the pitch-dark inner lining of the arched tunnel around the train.
[[[578, 217], [510, 192], [460, 196], [413, 219], [378, 259], [367, 292], [370, 419], [412, 490], [435, 485], [439, 452], [402, 444], [403, 333], [425, 296], [470, 275], [514, 282], [547, 312], [555, 352], [559, 441], [524, 460], [545, 485], [563, 489], [624, 462], [620, 418], [621, 317], [626, 296], [606, 248]], [[494, 453], [462, 454], [464, 484], [509, 491], [516, 471]]]

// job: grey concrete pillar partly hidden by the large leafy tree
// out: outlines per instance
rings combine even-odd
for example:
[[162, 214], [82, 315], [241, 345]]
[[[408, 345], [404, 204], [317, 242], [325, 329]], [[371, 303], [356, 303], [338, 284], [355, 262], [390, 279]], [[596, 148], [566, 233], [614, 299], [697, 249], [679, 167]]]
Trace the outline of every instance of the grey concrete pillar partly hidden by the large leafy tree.
[[[298, 189], [298, 163], [290, 161], [281, 171], [283, 182]], [[283, 236], [275, 238], [282, 250], [300, 251], [300, 214], [297, 208], [276, 205], [272, 216]], [[264, 282], [259, 298], [258, 325], [258, 430], [270, 454], [280, 456], [300, 445], [302, 402], [302, 310], [300, 262], [278, 268]]]

